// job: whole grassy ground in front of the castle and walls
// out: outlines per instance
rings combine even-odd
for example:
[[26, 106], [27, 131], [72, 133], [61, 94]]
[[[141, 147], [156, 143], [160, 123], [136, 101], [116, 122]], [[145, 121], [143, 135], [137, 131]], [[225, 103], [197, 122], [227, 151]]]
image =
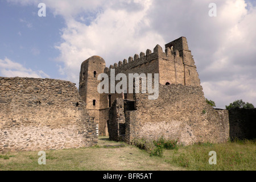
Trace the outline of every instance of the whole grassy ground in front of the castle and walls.
[[[208, 155], [216, 151], [217, 164]], [[256, 170], [255, 140], [222, 144], [199, 143], [163, 150], [162, 157], [146, 150], [100, 137], [97, 146], [46, 151], [46, 165], [39, 165], [38, 151], [0, 155], [0, 170], [85, 170], [85, 171], [171, 171], [171, 170]]]

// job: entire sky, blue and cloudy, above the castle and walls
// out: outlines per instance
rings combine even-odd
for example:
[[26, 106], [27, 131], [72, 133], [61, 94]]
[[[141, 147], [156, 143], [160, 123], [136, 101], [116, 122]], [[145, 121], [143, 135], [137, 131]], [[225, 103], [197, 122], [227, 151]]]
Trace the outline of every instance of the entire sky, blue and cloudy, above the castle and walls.
[[91, 56], [109, 67], [157, 44], [164, 51], [181, 36], [208, 100], [222, 109], [240, 99], [256, 107], [256, 0], [0, 0], [0, 76], [78, 86]]

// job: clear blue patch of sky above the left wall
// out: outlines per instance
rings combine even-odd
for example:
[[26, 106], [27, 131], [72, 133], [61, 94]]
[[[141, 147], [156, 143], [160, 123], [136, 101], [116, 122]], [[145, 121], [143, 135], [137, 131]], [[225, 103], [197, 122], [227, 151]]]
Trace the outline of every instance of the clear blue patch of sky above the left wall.
[[52, 78], [60, 77], [55, 61], [59, 51], [55, 46], [61, 42], [60, 29], [65, 22], [52, 13], [41, 18], [38, 10], [36, 6], [1, 1], [0, 57], [34, 71], [41, 70]]

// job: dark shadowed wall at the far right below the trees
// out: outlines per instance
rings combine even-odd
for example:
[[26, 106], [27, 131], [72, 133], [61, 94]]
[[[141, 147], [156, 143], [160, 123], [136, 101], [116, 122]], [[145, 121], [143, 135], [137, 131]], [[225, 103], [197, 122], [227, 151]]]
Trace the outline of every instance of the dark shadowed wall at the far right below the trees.
[[230, 109], [229, 135], [231, 139], [256, 138], [256, 109]]

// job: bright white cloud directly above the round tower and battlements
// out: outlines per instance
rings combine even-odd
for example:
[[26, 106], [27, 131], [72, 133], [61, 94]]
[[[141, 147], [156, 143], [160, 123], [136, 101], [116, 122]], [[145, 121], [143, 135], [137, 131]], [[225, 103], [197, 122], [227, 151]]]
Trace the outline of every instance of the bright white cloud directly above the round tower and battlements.
[[59, 60], [64, 62], [61, 70], [69, 73], [68, 80], [78, 82], [80, 64], [90, 56], [99, 55], [110, 65], [158, 43], [164, 44], [162, 36], [151, 30], [146, 17], [150, 5], [150, 1], [139, 3], [141, 10], [133, 12], [123, 7], [105, 9], [89, 26], [67, 19], [61, 36], [64, 42], [56, 48], [61, 52]]

